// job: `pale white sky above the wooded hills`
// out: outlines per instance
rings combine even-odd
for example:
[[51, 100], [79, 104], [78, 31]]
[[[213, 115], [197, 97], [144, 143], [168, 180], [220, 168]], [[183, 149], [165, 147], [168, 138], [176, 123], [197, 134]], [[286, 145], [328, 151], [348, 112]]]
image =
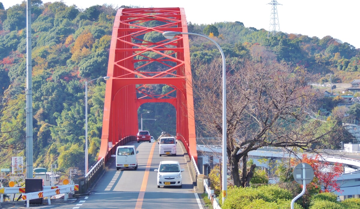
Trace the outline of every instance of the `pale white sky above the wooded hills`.
[[[55, 0], [43, 0], [43, 3]], [[22, 0], [0, 0], [5, 9]], [[181, 7], [185, 9], [186, 20], [193, 24], [211, 24], [215, 22], [244, 23], [245, 27], [270, 30], [271, 0], [63, 0], [67, 5], [75, 4], [86, 9], [96, 4], [108, 4], [140, 7]], [[280, 31], [297, 33], [309, 37], [332, 36], [342, 42], [360, 48], [360, 1], [359, 0], [277, 0]], [[271, 27], [272, 29], [272, 27]]]

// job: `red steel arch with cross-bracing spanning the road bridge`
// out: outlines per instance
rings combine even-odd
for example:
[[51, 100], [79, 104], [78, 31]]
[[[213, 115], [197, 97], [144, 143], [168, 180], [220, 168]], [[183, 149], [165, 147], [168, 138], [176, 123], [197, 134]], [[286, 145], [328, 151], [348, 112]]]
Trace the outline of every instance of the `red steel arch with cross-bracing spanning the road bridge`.
[[[99, 159], [108, 161], [117, 146], [136, 140], [137, 110], [142, 104], [167, 102], [176, 109], [177, 140], [197, 161], [189, 40], [187, 35], [167, 40], [162, 36], [165, 31], [188, 32], [183, 8], [118, 9], [109, 53], [107, 76], [111, 78], [106, 83]], [[146, 91], [147, 84], [165, 84], [171, 90], [154, 95]]]

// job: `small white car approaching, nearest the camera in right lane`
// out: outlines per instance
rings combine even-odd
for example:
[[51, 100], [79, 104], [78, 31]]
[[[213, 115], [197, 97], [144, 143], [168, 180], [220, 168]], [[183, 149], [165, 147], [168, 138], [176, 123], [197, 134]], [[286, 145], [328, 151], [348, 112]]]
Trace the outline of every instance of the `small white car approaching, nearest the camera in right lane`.
[[159, 168], [154, 171], [158, 173], [158, 188], [160, 188], [160, 186], [183, 187], [181, 172], [184, 171], [184, 168], [180, 167], [180, 163], [178, 161], [161, 161]]

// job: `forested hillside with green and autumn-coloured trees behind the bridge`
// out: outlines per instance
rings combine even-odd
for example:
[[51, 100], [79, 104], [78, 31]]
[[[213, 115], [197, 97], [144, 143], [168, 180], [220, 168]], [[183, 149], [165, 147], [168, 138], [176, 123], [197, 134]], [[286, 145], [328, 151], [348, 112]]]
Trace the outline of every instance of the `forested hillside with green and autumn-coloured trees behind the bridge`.
[[[107, 74], [117, 8], [103, 4], [79, 9], [62, 1], [44, 3], [41, 0], [32, 0], [31, 8], [34, 168], [57, 164], [63, 172], [69, 168], [84, 170], [85, 82]], [[241, 21], [211, 25], [188, 22], [188, 32], [213, 38], [233, 63], [250, 60], [301, 67], [313, 75], [313, 80], [308, 82], [320, 84], [329, 82], [329, 74], [334, 84], [360, 79], [360, 49], [351, 43], [337, 40], [331, 34], [309, 37], [280, 32], [268, 37], [265, 29], [244, 27]], [[192, 70], [196, 69], [195, 64], [208, 65], [220, 56], [212, 43], [189, 38]], [[13, 156], [26, 156], [25, 88], [26, 1], [8, 9], [0, 2], [1, 168], [10, 168]], [[159, 91], [151, 89], [152, 86], [148, 88]], [[100, 147], [104, 93], [104, 80], [89, 84], [90, 166], [97, 159]], [[340, 102], [319, 101], [318, 105], [328, 111]], [[143, 117], [159, 120], [146, 121], [144, 130], [149, 130], [154, 138], [164, 130], [175, 134], [175, 110], [167, 107], [141, 106], [139, 127], [140, 113], [151, 110]], [[171, 120], [167, 122], [161, 120], [169, 117]], [[206, 136], [206, 131], [200, 135]]]

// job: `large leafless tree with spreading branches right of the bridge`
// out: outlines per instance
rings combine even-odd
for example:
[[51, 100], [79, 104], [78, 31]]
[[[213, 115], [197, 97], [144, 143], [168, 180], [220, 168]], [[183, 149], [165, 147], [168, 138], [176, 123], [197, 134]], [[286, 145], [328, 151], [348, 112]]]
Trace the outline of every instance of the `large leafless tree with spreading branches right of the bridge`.
[[[252, 150], [273, 146], [290, 152], [293, 148], [316, 151], [331, 143], [327, 135], [336, 131], [336, 121], [309, 117], [320, 94], [307, 87], [312, 78], [304, 69], [275, 62], [227, 62], [226, 152], [234, 185], [248, 186], [255, 169], [247, 166]], [[195, 119], [200, 130], [218, 138], [222, 133], [220, 69], [220, 60], [197, 66], [193, 79]]]

